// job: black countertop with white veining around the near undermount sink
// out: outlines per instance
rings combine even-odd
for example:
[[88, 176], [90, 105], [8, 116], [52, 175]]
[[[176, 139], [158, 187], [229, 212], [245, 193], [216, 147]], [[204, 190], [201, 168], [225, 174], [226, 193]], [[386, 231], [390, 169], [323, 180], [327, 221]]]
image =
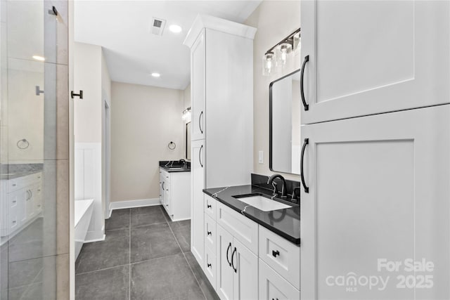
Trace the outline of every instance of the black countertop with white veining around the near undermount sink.
[[[233, 196], [261, 193], [271, 197], [271, 191], [259, 188], [256, 185], [238, 185], [229, 188], [207, 188], [203, 193], [210, 195], [219, 202], [231, 207], [240, 214], [247, 216], [256, 223], [281, 235], [286, 240], [300, 246], [300, 206], [284, 200], [276, 199], [278, 202], [289, 204], [293, 207], [278, 209], [276, 211], [261, 211], [256, 207], [248, 206]], [[247, 208], [245, 209], [245, 207]], [[245, 209], [245, 211], [243, 211]]]

